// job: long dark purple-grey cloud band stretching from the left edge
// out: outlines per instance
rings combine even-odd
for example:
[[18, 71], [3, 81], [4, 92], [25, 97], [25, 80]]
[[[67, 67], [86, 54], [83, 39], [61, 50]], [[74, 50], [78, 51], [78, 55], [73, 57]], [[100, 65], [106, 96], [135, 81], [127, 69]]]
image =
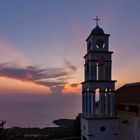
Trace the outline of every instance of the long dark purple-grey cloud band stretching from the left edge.
[[44, 86], [62, 86], [69, 75], [64, 68], [41, 69], [35, 66], [19, 67], [8, 63], [0, 64], [0, 76], [29, 81]]

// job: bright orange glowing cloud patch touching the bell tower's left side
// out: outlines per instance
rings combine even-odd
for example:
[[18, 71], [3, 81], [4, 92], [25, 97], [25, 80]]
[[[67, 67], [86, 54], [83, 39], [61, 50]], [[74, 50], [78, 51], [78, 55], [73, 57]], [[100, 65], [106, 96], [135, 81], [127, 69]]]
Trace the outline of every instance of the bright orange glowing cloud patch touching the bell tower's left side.
[[63, 93], [81, 93], [81, 84], [66, 84], [62, 90]]

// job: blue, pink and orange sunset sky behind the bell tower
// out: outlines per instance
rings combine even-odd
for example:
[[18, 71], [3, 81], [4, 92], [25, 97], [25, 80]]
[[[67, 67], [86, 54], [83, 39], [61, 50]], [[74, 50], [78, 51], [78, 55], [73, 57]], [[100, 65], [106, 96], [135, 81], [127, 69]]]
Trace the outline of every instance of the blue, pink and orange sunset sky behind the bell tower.
[[116, 88], [138, 82], [139, 5], [138, 0], [1, 0], [1, 99], [42, 100], [52, 95], [56, 102], [58, 96], [78, 96], [80, 102], [85, 40], [96, 16], [111, 34]]

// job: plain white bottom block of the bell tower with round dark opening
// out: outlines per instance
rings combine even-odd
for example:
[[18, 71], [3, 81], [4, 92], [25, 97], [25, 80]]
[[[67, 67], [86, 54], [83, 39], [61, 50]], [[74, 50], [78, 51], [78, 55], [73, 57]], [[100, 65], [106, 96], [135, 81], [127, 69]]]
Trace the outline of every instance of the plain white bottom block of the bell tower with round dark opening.
[[[92, 119], [81, 118], [81, 136], [87, 140], [119, 140], [117, 119]], [[104, 131], [101, 129], [105, 128]]]

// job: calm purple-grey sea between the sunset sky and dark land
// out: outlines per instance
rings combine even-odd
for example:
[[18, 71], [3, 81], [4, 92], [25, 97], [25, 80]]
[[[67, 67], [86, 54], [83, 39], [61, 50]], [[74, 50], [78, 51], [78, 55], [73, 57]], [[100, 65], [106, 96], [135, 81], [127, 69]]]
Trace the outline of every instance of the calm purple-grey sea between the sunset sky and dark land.
[[6, 128], [54, 127], [54, 120], [75, 119], [80, 112], [80, 95], [0, 97], [0, 120]]

